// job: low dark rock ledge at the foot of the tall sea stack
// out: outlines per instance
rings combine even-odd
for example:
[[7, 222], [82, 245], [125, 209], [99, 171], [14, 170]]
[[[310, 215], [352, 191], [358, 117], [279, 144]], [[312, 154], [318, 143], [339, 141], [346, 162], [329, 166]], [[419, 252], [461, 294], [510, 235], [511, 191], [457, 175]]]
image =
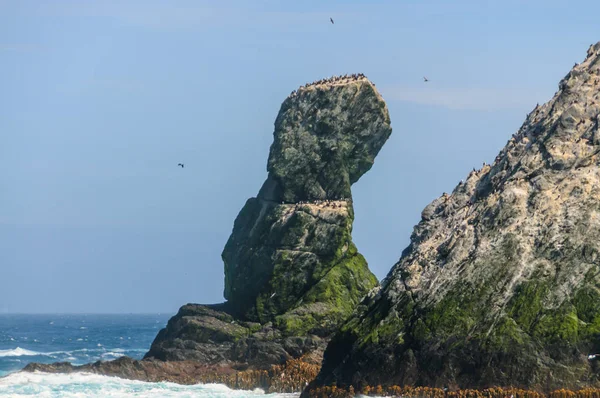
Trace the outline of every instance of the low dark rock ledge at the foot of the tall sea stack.
[[304, 356], [320, 364], [327, 340], [314, 334], [285, 335], [272, 323], [234, 318], [210, 305], [187, 304], [156, 337], [147, 359], [196, 361], [237, 370], [267, 369]]

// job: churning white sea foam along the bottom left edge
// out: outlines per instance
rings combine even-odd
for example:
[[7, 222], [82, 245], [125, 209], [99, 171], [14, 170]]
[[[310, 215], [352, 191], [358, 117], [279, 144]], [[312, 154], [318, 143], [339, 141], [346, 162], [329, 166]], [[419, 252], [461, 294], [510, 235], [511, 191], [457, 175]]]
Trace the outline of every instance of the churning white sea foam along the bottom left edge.
[[231, 390], [220, 384], [182, 386], [146, 383], [89, 373], [13, 373], [0, 378], [2, 397], [145, 397], [145, 398], [295, 398], [299, 394], [264, 394], [262, 390]]

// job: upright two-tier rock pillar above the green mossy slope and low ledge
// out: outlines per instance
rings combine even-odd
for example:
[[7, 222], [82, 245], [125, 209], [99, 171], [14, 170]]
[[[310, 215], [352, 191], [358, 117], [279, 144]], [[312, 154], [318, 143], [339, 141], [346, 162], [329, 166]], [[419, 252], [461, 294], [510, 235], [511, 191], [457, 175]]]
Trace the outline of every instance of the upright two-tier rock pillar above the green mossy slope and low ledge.
[[[352, 273], [366, 269], [362, 257], [354, 258], [360, 255], [350, 236], [350, 186], [390, 133], [385, 102], [364, 77], [304, 86], [283, 102], [267, 181], [246, 202], [223, 250], [232, 307], [264, 322], [295, 307], [340, 263]], [[359, 295], [366, 292], [362, 283], [355, 284]]]

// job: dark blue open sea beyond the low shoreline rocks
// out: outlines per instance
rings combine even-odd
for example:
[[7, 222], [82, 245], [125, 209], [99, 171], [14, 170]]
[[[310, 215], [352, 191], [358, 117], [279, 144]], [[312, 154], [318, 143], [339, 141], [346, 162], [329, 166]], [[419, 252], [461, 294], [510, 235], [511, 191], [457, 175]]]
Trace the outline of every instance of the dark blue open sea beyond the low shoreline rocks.
[[29, 362], [141, 358], [169, 320], [152, 315], [0, 315], [0, 376]]

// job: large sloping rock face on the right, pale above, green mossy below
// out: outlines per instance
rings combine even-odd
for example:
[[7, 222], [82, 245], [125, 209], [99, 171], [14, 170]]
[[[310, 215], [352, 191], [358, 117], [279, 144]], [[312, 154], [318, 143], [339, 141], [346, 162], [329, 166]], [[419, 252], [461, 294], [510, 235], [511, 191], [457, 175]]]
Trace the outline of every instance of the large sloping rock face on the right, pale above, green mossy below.
[[422, 212], [312, 387], [600, 386], [600, 43]]

